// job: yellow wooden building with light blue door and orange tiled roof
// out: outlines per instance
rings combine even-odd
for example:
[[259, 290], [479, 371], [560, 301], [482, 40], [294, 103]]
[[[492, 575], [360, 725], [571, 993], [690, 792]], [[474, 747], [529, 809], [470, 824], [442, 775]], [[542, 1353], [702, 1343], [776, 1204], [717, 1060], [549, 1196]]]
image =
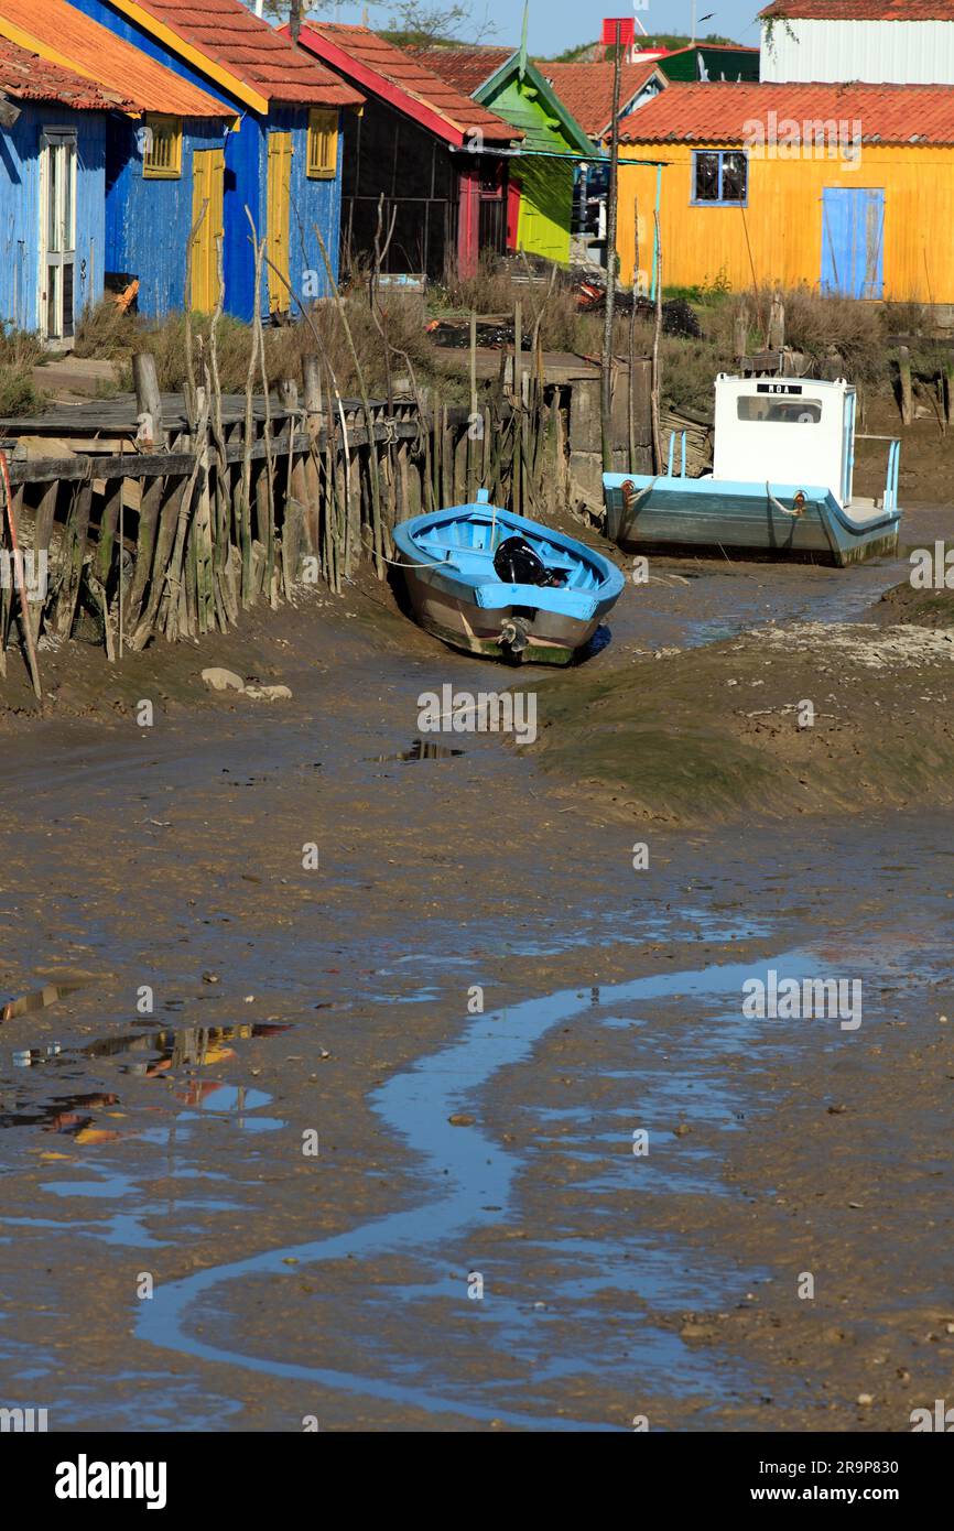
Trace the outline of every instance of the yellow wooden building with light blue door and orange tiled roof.
[[628, 158], [666, 161], [666, 285], [954, 303], [949, 86], [669, 86], [620, 127], [625, 282], [637, 230], [649, 263], [657, 194], [655, 170]]

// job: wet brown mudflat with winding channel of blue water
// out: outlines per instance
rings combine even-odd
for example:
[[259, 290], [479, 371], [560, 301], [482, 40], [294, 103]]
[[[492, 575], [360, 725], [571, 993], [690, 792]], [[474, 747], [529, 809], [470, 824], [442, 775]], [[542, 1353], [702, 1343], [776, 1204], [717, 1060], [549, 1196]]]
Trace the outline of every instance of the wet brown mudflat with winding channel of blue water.
[[[856, 1431], [945, 1396], [954, 645], [880, 600], [902, 559], [651, 571], [562, 675], [374, 582], [115, 674], [47, 651], [38, 720], [8, 655], [6, 1405]], [[400, 758], [424, 690], [513, 678], [536, 746]], [[859, 1024], [747, 1018], [769, 971], [858, 980]]]

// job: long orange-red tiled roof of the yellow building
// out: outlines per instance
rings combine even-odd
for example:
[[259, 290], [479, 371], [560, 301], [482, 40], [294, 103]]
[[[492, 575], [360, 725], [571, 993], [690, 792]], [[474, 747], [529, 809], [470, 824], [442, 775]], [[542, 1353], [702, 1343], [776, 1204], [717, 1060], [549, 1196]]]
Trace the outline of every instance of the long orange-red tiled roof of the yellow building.
[[620, 124], [626, 144], [741, 144], [753, 121], [858, 119], [862, 144], [954, 144], [954, 86], [671, 84]]

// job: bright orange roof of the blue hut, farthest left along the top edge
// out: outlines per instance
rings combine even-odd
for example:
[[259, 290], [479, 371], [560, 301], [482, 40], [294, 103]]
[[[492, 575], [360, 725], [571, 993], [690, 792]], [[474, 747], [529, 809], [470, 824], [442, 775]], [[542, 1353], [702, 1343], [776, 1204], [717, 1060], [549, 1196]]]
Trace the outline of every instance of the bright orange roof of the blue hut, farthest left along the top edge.
[[0, 0], [0, 35], [37, 51], [51, 63], [115, 90], [132, 110], [172, 116], [233, 116], [233, 110], [173, 75], [147, 54], [113, 37], [66, 0]]

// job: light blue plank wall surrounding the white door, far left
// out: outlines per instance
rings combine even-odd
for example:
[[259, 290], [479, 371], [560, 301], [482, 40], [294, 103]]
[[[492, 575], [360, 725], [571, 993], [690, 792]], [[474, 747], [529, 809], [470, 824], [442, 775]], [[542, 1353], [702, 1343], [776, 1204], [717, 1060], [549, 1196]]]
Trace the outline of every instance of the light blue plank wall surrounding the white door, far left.
[[106, 262], [106, 118], [54, 103], [21, 101], [20, 116], [2, 135], [0, 152], [0, 317], [17, 329], [40, 328], [40, 135], [44, 127], [77, 133], [77, 259], [74, 318], [103, 297]]

